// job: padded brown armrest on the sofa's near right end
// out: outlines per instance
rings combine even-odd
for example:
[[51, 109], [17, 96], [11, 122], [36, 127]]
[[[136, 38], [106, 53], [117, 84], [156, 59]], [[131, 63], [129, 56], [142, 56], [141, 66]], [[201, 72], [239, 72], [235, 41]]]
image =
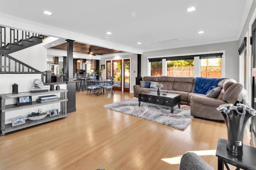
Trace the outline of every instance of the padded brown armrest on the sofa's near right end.
[[221, 104], [226, 104], [226, 102], [224, 102], [221, 99], [209, 98], [206, 96], [199, 96], [196, 94], [191, 96], [190, 103], [192, 102], [200, 103], [206, 106], [213, 106], [213, 107], [219, 107]]

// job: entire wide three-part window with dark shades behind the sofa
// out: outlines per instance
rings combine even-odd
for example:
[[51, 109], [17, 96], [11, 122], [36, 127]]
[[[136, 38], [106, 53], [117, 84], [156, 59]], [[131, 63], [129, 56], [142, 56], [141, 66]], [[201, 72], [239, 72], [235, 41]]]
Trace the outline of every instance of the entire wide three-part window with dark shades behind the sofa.
[[[223, 53], [182, 55], [174, 57], [150, 58], [151, 76], [202, 76], [221, 78], [225, 60]], [[222, 61], [224, 63], [222, 63]]]

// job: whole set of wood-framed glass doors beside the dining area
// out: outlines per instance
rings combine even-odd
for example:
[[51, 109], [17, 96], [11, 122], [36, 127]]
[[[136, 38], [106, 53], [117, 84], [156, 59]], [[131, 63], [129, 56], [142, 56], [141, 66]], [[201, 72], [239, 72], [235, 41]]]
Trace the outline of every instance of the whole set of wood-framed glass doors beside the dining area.
[[114, 90], [130, 92], [130, 59], [106, 61], [106, 78], [115, 77]]

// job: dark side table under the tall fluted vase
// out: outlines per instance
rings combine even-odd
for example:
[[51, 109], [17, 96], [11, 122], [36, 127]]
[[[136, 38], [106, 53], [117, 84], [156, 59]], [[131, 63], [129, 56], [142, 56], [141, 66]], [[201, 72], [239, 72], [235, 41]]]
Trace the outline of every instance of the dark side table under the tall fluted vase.
[[227, 164], [236, 166], [239, 170], [256, 170], [256, 148], [243, 145], [243, 154], [235, 156], [227, 150], [227, 140], [219, 138], [216, 149], [216, 156], [218, 156], [218, 170], [224, 169], [224, 164], [229, 170]]

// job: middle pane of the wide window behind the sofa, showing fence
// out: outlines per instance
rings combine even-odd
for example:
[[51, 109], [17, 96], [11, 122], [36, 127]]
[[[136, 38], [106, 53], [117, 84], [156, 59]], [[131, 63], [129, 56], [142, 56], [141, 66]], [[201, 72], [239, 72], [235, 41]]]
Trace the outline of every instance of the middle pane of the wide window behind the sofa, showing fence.
[[194, 60], [167, 61], [167, 76], [194, 76]]

